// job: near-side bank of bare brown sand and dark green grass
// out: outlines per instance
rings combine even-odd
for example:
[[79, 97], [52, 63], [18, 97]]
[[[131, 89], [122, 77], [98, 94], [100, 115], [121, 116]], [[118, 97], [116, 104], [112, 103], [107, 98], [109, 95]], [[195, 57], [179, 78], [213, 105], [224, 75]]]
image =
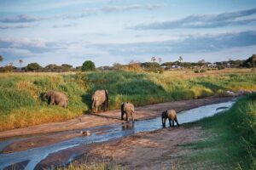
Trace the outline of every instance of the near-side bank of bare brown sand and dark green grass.
[[80, 146], [77, 150], [86, 149], [84, 155], [64, 169], [86, 169], [99, 162], [118, 169], [255, 169], [255, 121], [256, 94], [251, 94], [229, 111], [183, 127]]

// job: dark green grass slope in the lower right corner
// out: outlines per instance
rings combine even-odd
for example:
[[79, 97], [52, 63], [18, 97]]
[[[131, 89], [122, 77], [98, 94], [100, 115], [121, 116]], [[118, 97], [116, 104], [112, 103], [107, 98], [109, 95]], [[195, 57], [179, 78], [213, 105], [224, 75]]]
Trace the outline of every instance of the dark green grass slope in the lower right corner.
[[[195, 122], [207, 139], [186, 145], [191, 169], [256, 169], [256, 94], [239, 99], [230, 111]], [[212, 169], [211, 168], [211, 169]]]

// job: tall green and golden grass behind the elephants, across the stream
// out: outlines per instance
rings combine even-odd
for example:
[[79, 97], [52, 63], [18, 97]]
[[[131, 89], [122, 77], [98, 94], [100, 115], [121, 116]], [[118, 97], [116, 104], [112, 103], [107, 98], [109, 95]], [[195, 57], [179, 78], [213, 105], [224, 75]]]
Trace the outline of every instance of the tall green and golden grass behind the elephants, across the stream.
[[[234, 72], [234, 71], [231, 71]], [[163, 74], [127, 71], [89, 73], [29, 73], [0, 75], [0, 131], [43, 122], [61, 122], [90, 111], [96, 89], [108, 89], [110, 109], [122, 101], [148, 105], [180, 99], [224, 96], [226, 90], [256, 90], [256, 76], [249, 71], [166, 71]], [[68, 108], [49, 106], [40, 94], [55, 89], [67, 94]]]

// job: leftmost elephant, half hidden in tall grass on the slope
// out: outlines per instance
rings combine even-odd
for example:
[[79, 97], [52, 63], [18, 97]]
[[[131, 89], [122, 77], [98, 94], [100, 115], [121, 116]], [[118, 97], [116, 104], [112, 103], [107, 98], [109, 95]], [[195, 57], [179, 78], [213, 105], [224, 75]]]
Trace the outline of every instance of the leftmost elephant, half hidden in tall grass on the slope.
[[48, 99], [49, 105], [60, 105], [61, 107], [67, 108], [67, 96], [61, 92], [50, 90], [44, 94], [44, 99]]

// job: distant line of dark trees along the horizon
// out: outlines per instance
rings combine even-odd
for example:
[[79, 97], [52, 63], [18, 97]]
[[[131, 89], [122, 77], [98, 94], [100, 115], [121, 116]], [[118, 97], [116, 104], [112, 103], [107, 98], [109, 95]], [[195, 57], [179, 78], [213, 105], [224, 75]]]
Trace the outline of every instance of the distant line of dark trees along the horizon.
[[[3, 61], [3, 56], [0, 55], [0, 62]], [[26, 66], [21, 67], [23, 63], [22, 59], [18, 61], [20, 63], [20, 68], [17, 68], [13, 63], [9, 65], [4, 65], [0, 67], [1, 72], [10, 71], [43, 71], [43, 72], [66, 72], [66, 71], [96, 71], [96, 66], [94, 62], [90, 60], [84, 61], [82, 66], [73, 68], [73, 65], [62, 64], [62, 65], [46, 65], [41, 66], [38, 63], [30, 63]], [[119, 63], [114, 63], [112, 66], [101, 66], [97, 70], [126, 70], [126, 71], [152, 71], [152, 72], [162, 72], [165, 70], [177, 70], [177, 69], [195, 69], [201, 70], [221, 70], [225, 68], [255, 68], [256, 66], [256, 54], [253, 54], [248, 59], [229, 59], [228, 61], [219, 61], [210, 63], [201, 59], [198, 62], [183, 62], [183, 57], [179, 56], [177, 61], [169, 61], [162, 63], [161, 58], [152, 57], [150, 62], [136, 62], [131, 61], [128, 65], [121, 65]]]

